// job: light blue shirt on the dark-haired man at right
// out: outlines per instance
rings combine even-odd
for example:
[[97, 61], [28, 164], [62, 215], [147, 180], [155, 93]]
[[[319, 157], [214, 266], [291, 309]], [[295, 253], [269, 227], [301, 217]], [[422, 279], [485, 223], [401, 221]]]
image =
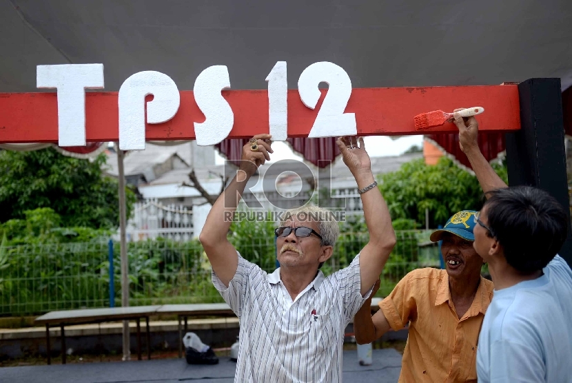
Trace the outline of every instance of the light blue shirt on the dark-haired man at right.
[[479, 335], [479, 383], [572, 382], [572, 271], [558, 255], [543, 271], [494, 291]]

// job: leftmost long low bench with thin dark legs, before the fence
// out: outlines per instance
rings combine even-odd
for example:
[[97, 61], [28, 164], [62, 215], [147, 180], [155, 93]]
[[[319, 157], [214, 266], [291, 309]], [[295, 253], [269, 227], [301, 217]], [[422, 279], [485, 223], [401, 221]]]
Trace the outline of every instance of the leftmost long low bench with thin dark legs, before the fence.
[[101, 323], [116, 320], [137, 321], [137, 359], [141, 360], [141, 318], [145, 318], [147, 324], [147, 359], [151, 359], [151, 342], [149, 332], [149, 317], [154, 315], [161, 306], [133, 306], [112, 307], [108, 309], [81, 309], [50, 311], [36, 318], [38, 324], [45, 324], [45, 342], [48, 351], [48, 364], [50, 357], [50, 325], [59, 326], [61, 329], [61, 363], [65, 364], [65, 332], [64, 327], [70, 324]]

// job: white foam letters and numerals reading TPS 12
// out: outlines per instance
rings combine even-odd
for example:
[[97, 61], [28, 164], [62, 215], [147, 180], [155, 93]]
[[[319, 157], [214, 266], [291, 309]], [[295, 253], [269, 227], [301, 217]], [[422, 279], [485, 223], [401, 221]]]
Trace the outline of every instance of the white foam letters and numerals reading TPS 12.
[[[266, 81], [269, 132], [274, 141], [284, 141], [288, 136], [286, 62], [278, 61]], [[351, 80], [340, 66], [327, 61], [309, 65], [298, 79], [300, 102], [314, 110], [321, 95], [318, 85], [322, 82], [329, 89], [308, 137], [356, 135], [356, 115], [345, 113]], [[59, 146], [85, 145], [85, 90], [103, 86], [103, 64], [38, 65], [37, 87], [57, 90]], [[229, 136], [234, 111], [221, 91], [230, 87], [225, 65], [211, 66], [197, 76], [194, 101], [206, 119], [194, 122], [188, 129], [194, 129], [198, 145], [214, 145]], [[146, 102], [145, 97], [150, 94], [153, 99]], [[170, 76], [144, 71], [123, 82], [118, 103], [120, 149], [145, 149], [145, 123], [170, 121], [181, 107], [181, 96]]]

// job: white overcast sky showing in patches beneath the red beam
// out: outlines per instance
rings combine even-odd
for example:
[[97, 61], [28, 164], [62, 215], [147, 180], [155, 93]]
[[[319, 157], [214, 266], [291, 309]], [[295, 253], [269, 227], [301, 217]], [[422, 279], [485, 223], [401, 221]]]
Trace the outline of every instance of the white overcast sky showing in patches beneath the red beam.
[[[371, 157], [399, 156], [413, 145], [422, 147], [423, 136], [402, 136], [396, 140], [392, 140], [388, 136], [368, 136], [364, 138], [364, 141], [365, 149], [367, 149]], [[285, 159], [302, 160], [302, 156], [294, 154], [286, 143], [277, 141], [272, 144], [272, 149], [274, 149], [274, 153], [271, 156], [271, 161]], [[224, 163], [223, 157], [216, 151], [215, 161], [216, 165], [223, 165]]]

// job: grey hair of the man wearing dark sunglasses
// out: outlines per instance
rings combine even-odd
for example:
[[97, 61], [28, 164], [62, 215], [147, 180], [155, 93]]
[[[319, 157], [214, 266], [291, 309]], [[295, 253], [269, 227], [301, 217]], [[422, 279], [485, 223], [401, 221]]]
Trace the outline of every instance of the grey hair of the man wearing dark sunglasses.
[[318, 230], [320, 231], [320, 236], [322, 236], [322, 245], [336, 245], [336, 240], [340, 235], [340, 227], [338, 226], [335, 215], [328, 209], [314, 205], [305, 205], [303, 207], [297, 207], [296, 209], [290, 209], [285, 212], [280, 226], [283, 226], [285, 222], [292, 217], [296, 217], [300, 221], [315, 220], [318, 222]]

